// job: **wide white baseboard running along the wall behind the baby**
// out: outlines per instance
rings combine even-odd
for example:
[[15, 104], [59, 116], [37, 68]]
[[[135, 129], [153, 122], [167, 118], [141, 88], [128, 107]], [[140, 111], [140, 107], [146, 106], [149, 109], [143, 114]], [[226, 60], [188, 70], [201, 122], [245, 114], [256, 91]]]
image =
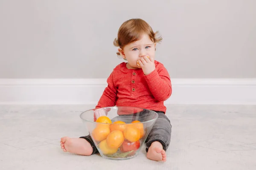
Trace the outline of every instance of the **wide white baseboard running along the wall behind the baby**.
[[[0, 79], [0, 104], [96, 105], [106, 79]], [[256, 79], [172, 79], [165, 104], [256, 105]]]

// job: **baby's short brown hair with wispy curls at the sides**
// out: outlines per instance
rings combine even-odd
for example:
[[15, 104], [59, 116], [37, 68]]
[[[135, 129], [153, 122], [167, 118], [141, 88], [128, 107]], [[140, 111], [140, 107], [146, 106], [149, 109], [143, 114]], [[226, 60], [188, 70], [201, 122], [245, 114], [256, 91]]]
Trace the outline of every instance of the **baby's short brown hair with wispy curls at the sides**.
[[[116, 47], [123, 48], [132, 42], [140, 40], [142, 34], [148, 34], [152, 42], [160, 42], [161, 36], [157, 37], [159, 32], [154, 32], [147, 22], [142, 19], [131, 19], [125, 21], [119, 28], [117, 38], [114, 40]], [[119, 52], [116, 53], [120, 55]]]

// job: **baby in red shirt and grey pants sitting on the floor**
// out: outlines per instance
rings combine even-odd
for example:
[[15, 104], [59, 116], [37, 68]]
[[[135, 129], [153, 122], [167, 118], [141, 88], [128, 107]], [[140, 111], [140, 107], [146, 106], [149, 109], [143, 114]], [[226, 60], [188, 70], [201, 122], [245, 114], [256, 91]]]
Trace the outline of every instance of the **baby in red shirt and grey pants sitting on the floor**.
[[[117, 55], [127, 62], [117, 65], [107, 79], [96, 108], [130, 106], [152, 110], [158, 118], [145, 141], [147, 158], [166, 161], [171, 141], [172, 125], [165, 115], [163, 102], [172, 94], [168, 71], [155, 60], [156, 43], [162, 40], [144, 20], [131, 19], [119, 28], [114, 45]], [[64, 152], [89, 156], [98, 152], [90, 135], [80, 138], [61, 138]]]

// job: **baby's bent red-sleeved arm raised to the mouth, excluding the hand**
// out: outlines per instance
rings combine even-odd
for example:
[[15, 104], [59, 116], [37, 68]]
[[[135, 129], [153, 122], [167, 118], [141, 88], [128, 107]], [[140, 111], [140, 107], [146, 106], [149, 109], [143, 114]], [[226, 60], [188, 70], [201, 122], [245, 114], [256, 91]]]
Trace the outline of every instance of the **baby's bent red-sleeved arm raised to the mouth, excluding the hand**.
[[159, 70], [154, 69], [150, 74], [145, 76], [148, 87], [158, 101], [167, 100], [172, 94], [171, 79], [166, 68], [161, 65]]

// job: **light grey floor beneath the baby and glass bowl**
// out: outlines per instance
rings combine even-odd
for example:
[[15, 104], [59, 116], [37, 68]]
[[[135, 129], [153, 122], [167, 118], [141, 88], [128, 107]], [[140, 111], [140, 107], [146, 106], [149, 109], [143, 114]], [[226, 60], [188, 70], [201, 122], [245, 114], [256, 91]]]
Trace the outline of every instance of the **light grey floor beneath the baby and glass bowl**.
[[0, 105], [1, 170], [256, 170], [256, 106], [168, 105], [172, 142], [165, 163], [145, 149], [125, 161], [64, 153], [62, 136], [79, 137], [90, 105]]

